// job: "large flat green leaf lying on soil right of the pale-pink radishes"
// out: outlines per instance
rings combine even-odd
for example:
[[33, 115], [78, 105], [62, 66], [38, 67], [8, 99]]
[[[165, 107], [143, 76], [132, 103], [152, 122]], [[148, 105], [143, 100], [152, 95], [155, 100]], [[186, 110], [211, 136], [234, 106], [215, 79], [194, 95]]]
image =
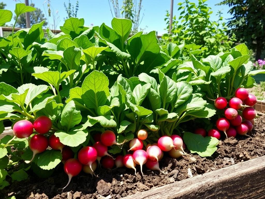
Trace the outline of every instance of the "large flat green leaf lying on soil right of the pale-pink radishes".
[[183, 140], [191, 153], [197, 153], [201, 157], [213, 155], [219, 143], [219, 140], [215, 137], [203, 137], [190, 132], [184, 132]]

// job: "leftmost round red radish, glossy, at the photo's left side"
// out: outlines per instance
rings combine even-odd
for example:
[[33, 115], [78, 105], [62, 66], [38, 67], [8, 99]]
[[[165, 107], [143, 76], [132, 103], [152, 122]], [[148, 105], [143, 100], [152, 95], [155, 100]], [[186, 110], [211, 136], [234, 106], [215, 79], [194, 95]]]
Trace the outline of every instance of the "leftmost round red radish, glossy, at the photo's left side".
[[29, 120], [20, 120], [13, 126], [14, 136], [27, 138], [33, 133], [33, 125]]

